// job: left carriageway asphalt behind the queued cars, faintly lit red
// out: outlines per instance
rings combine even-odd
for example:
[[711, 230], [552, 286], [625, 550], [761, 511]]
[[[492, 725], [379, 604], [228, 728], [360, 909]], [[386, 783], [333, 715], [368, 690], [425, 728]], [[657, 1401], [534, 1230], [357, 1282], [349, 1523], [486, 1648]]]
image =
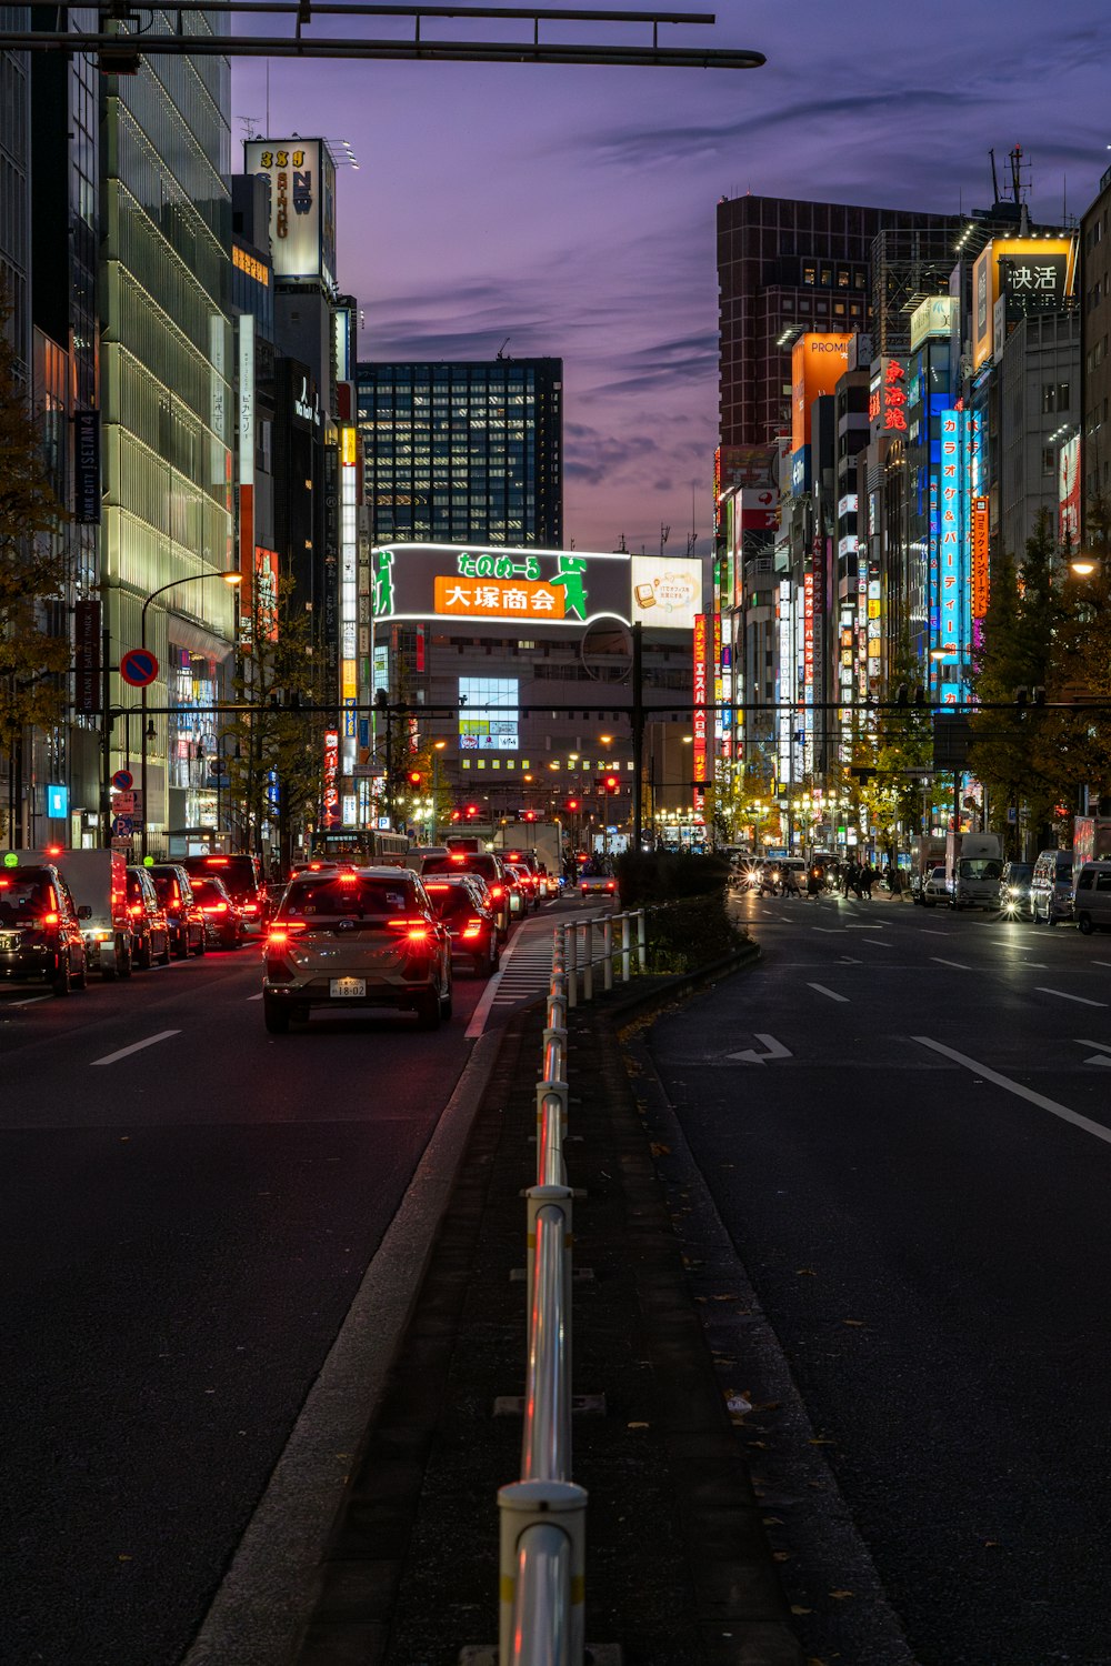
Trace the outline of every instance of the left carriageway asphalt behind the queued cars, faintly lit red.
[[257, 946], [0, 990], [0, 1658], [182, 1658], [486, 988], [458, 973], [430, 1035], [371, 1013], [280, 1038]]

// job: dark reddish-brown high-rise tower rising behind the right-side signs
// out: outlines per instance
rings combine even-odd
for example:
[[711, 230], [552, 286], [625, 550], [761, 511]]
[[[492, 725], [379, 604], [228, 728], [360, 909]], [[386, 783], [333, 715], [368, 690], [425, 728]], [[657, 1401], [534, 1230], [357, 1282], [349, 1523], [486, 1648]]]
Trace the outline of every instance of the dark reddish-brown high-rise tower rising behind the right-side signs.
[[[906, 233], [888, 268], [901, 305], [914, 295], [914, 267], [929, 268], [929, 233], [958, 227], [948, 215], [909, 208], [859, 208], [778, 197], [718, 202], [720, 440], [766, 445], [791, 421], [791, 343], [806, 332], [854, 333], [873, 325], [874, 242]], [[913, 237], [918, 235], [918, 240]]]

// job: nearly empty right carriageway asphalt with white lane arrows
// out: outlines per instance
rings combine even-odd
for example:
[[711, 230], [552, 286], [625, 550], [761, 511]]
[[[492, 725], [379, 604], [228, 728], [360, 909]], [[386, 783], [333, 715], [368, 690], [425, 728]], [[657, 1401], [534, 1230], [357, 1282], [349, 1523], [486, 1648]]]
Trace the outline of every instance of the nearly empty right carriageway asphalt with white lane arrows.
[[[761, 963], [651, 1050], [903, 1658], [1108, 1663], [1111, 938], [879, 900], [740, 911]], [[775, 1531], [818, 1653], [863, 1596], [798, 1504]]]

